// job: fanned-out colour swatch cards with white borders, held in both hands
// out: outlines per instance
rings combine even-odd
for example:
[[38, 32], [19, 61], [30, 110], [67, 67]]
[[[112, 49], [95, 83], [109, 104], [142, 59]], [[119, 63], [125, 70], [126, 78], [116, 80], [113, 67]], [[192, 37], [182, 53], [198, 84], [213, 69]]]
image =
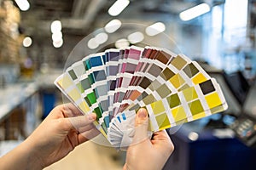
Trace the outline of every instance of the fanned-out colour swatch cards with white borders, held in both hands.
[[90, 54], [68, 67], [55, 85], [84, 114], [96, 113], [96, 127], [117, 149], [131, 144], [141, 107], [148, 111], [148, 132], [228, 107], [215, 79], [166, 48], [131, 46]]

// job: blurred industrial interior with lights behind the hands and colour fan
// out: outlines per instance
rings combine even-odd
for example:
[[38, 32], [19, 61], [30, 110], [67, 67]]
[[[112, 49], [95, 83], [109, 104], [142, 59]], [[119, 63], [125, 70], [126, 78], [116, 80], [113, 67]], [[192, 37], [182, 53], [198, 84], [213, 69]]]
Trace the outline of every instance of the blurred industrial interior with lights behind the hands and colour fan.
[[[168, 129], [176, 150], [165, 169], [255, 169], [255, 27], [254, 0], [0, 0], [0, 156], [63, 102], [53, 82], [79, 42], [81, 57], [148, 42], [198, 61], [229, 104]], [[46, 169], [121, 169], [124, 161], [89, 142]]]

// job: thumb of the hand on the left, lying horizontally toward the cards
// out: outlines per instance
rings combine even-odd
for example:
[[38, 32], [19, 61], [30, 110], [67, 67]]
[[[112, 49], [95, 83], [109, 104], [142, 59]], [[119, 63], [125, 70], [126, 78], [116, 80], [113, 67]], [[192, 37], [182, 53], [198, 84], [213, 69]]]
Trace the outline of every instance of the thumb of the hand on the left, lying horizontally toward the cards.
[[94, 122], [96, 120], [96, 114], [91, 113], [84, 116], [69, 117], [67, 119], [69, 122], [71, 122], [71, 125], [73, 127], [75, 127], [76, 129], [79, 129], [80, 127], [85, 127], [90, 123]]

